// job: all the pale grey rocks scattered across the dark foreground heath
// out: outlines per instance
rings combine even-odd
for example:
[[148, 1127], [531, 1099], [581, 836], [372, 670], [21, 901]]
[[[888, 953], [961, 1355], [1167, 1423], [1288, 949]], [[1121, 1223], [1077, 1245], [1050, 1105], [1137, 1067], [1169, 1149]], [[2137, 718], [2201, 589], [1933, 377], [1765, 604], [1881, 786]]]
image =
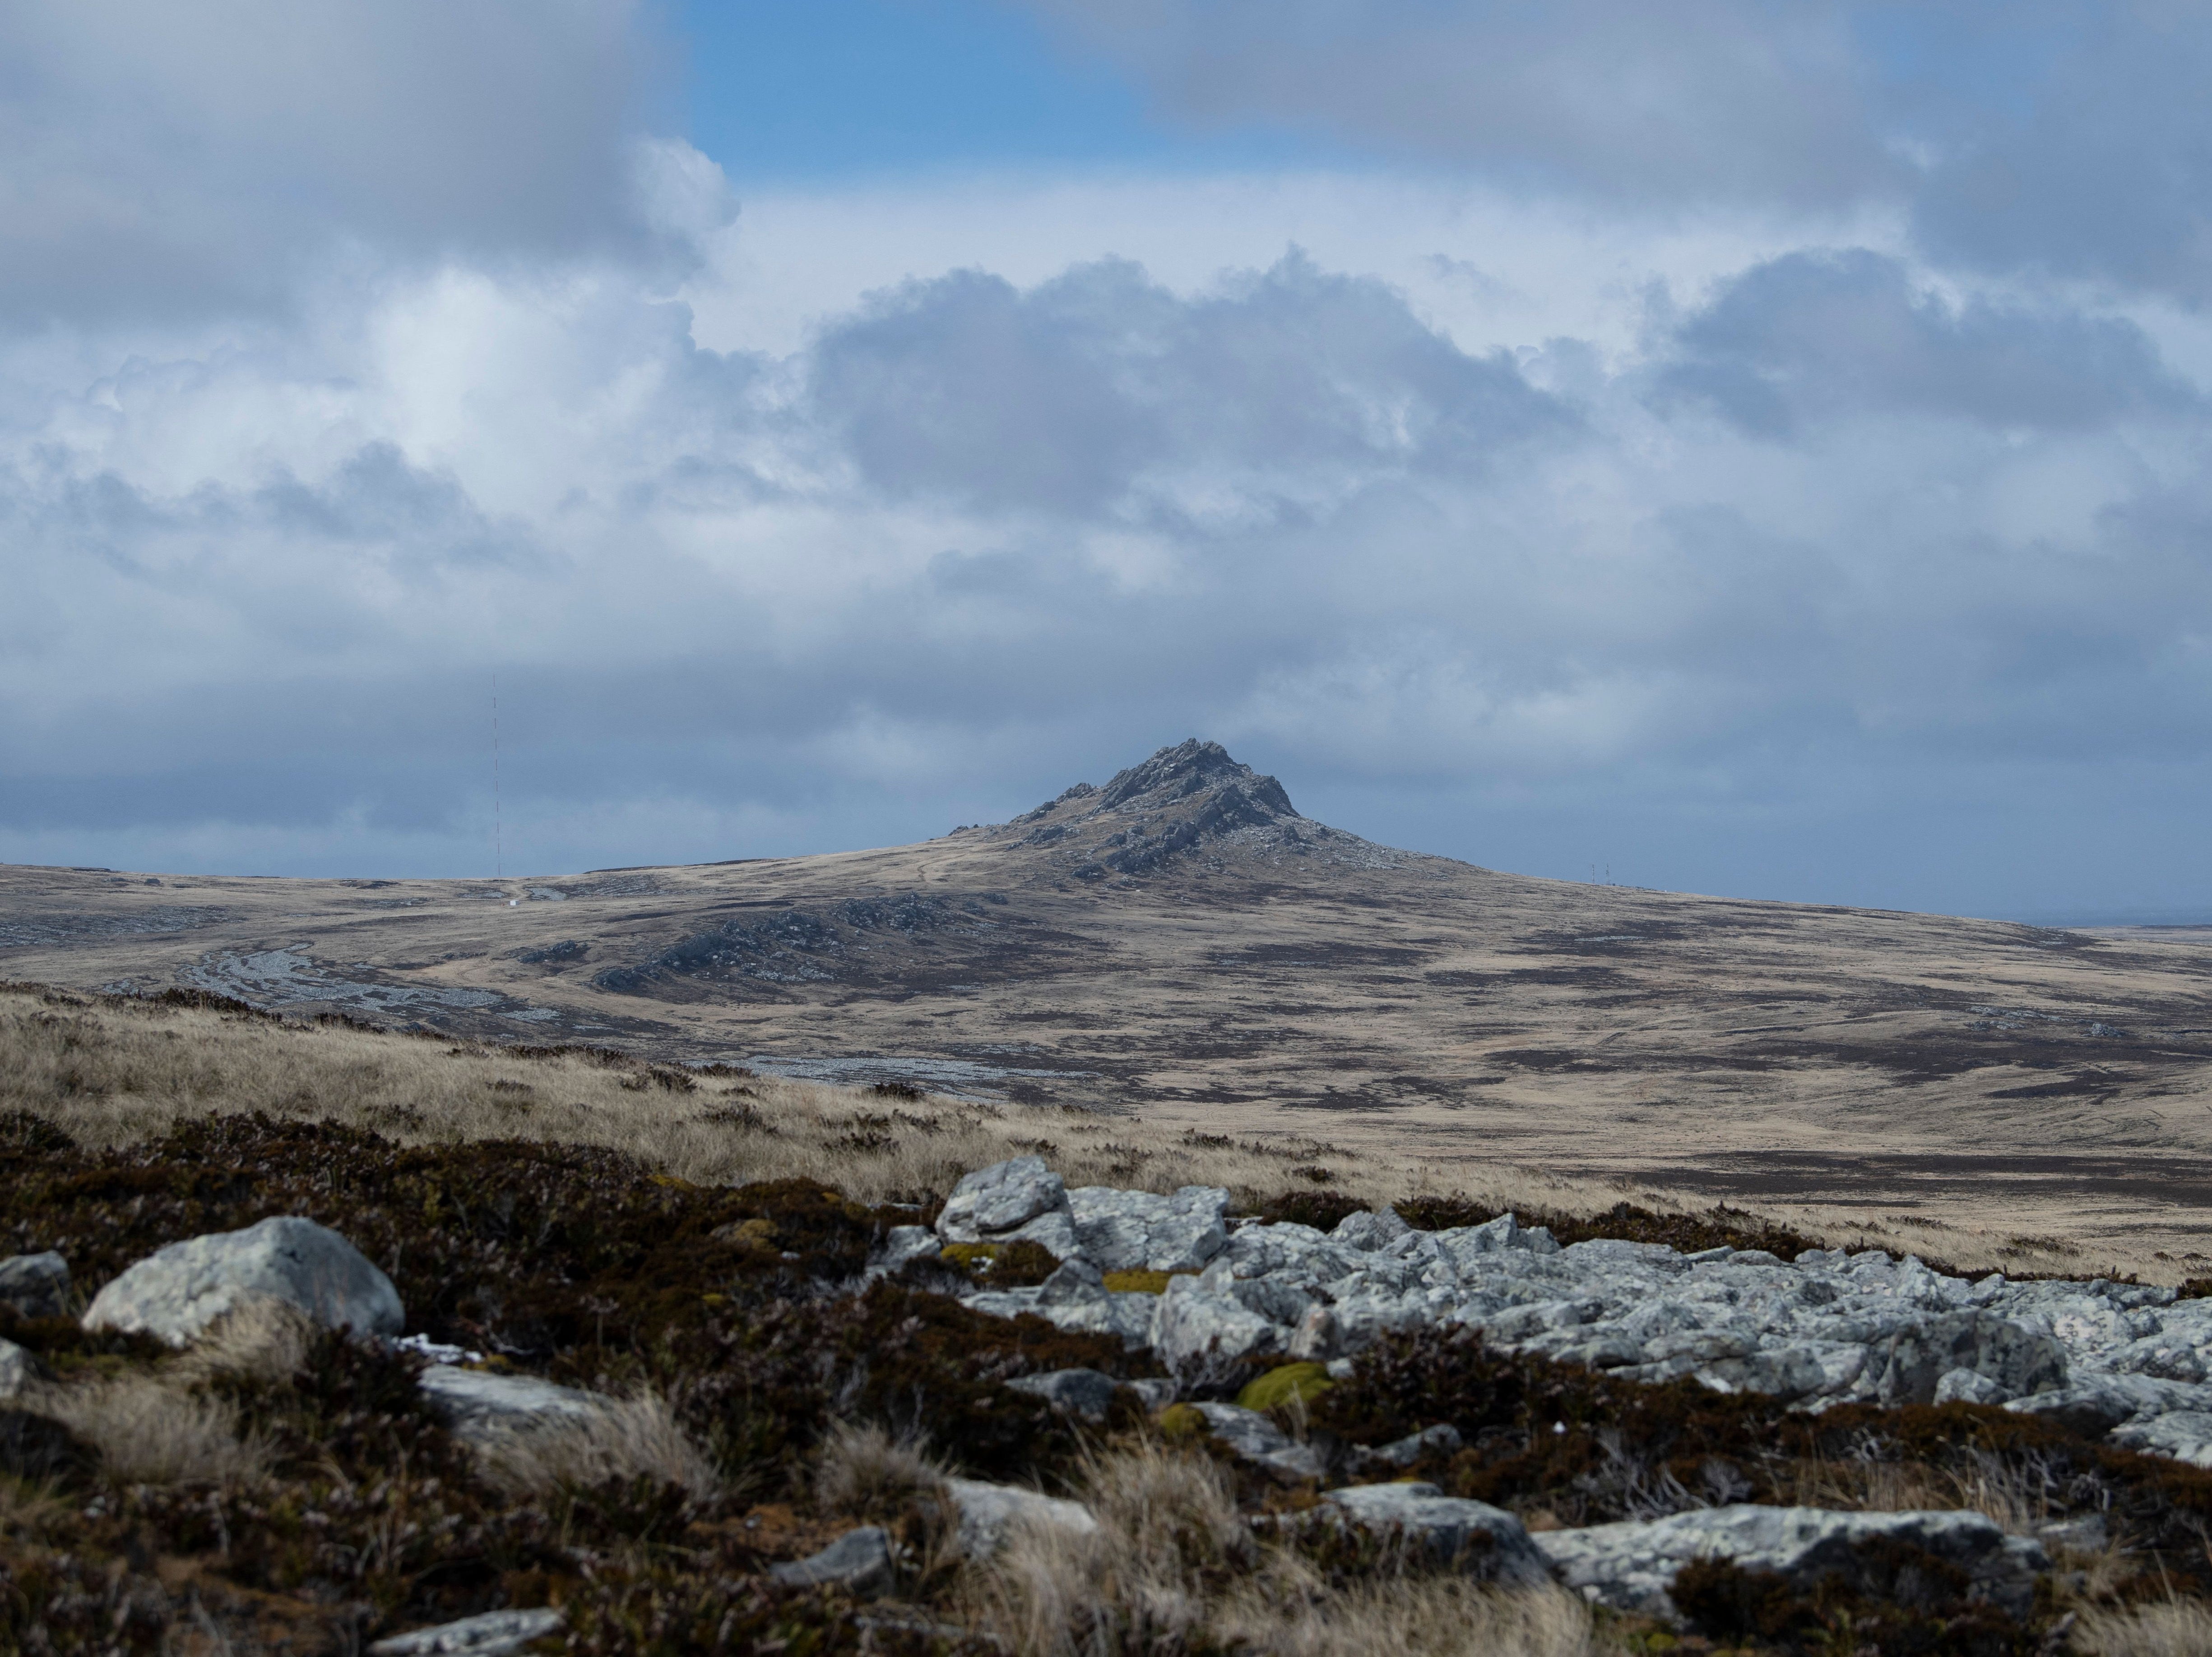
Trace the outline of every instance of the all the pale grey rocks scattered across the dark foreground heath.
[[[1349, 1376], [1356, 1354], [1385, 1334], [1464, 1325], [1480, 1330], [1491, 1349], [1540, 1354], [1610, 1378], [1690, 1378], [1805, 1414], [1838, 1405], [2002, 1405], [2104, 1434], [2119, 1447], [2212, 1465], [2212, 1301], [2181, 1301], [2163, 1288], [1964, 1281], [1878, 1252], [1807, 1250], [1783, 1261], [1761, 1250], [1681, 1254], [1617, 1239], [1562, 1248], [1551, 1232], [1513, 1217], [1422, 1232], [1394, 1212], [1356, 1212], [1321, 1232], [1232, 1219], [1228, 1192], [1197, 1186], [1172, 1197], [1066, 1190], [1042, 1159], [1022, 1157], [962, 1179], [933, 1228], [891, 1230], [863, 1281], [847, 1290], [887, 1274], [942, 1272], [958, 1259], [947, 1248], [969, 1250], [964, 1270], [973, 1270], [978, 1252], [1018, 1259], [1020, 1243], [1046, 1250], [1057, 1268], [1035, 1285], [971, 1290], [962, 1294], [971, 1310], [1035, 1314], [1064, 1332], [1117, 1336], [1128, 1352], [1150, 1349], [1168, 1376], [1117, 1380], [1062, 1369], [1018, 1376], [1009, 1383], [1015, 1389], [1091, 1422], [1104, 1420], [1126, 1389], [1157, 1422], [1181, 1411], [1219, 1453], [1318, 1498], [1254, 1515], [1254, 1524], [1383, 1538], [1475, 1580], [1553, 1580], [1604, 1606], [1661, 1619], [1679, 1617], [1672, 1595], [1692, 1564], [1721, 1560], [1787, 1584], [1816, 1584], [1860, 1569], [1854, 1562], [1882, 1546], [1936, 1560], [1973, 1604], [2026, 1615], [2053, 1557], [2042, 1540], [2006, 1535], [1966, 1509], [1719, 1502], [1531, 1533], [1500, 1507], [1396, 1478], [1425, 1456], [1460, 1447], [1447, 1422], [1383, 1445], [1305, 1442], [1285, 1431], [1281, 1411], [1239, 1407], [1221, 1394], [1254, 1372], [1290, 1376], [1292, 1389], [1301, 1374], [1327, 1387], [1321, 1376]], [[66, 1288], [66, 1263], [55, 1254], [0, 1261], [0, 1301], [18, 1310], [44, 1314]], [[285, 1301], [325, 1327], [352, 1327], [372, 1341], [405, 1327], [392, 1281], [345, 1237], [299, 1217], [161, 1248], [106, 1283], [84, 1325], [186, 1345], [217, 1312], [252, 1296]], [[546, 1418], [613, 1407], [577, 1387], [473, 1367], [465, 1363], [473, 1354], [422, 1336], [407, 1345], [431, 1358], [418, 1383], [431, 1407], [478, 1447]], [[0, 1343], [0, 1396], [35, 1403], [42, 1385], [35, 1361]], [[958, 1509], [958, 1549], [969, 1557], [998, 1551], [1018, 1524], [1095, 1531], [1079, 1502], [1018, 1484], [949, 1478], [945, 1491]], [[2062, 1540], [2075, 1538], [2051, 1538], [2053, 1546]], [[865, 1595], [887, 1580], [887, 1557], [883, 1531], [863, 1526], [814, 1557], [776, 1566], [776, 1580], [843, 1584]], [[498, 1613], [451, 1630], [418, 1630], [378, 1650], [513, 1650], [549, 1628], [549, 1613]]]

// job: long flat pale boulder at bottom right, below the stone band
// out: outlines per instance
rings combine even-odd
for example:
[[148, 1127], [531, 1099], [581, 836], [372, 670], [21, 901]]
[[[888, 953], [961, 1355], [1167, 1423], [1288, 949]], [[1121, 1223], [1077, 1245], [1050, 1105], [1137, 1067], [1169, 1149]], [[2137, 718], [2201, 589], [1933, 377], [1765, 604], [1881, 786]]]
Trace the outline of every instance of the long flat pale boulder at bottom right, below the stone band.
[[1854, 1551], [1902, 1542], [1960, 1566], [1973, 1597], [2015, 1615], [2035, 1597], [2051, 1564], [2035, 1542], [2008, 1538], [1982, 1513], [1829, 1513], [1816, 1507], [1714, 1507], [1663, 1520], [1621, 1520], [1579, 1531], [1540, 1531], [1535, 1549], [1559, 1580], [1615, 1611], [1674, 1619], [1668, 1591], [1690, 1560], [1728, 1560], [1774, 1571], [1796, 1586], [1854, 1580]]

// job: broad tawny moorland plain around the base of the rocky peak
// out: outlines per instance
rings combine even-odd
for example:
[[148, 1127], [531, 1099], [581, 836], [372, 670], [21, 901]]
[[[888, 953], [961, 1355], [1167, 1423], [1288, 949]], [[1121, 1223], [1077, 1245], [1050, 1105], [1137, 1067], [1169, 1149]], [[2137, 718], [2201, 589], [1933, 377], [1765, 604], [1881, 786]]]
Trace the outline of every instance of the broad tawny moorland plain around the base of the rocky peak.
[[[1075, 878], [1022, 823], [507, 883], [4, 867], [0, 973], [909, 1075], [1161, 1139], [1325, 1142], [1429, 1188], [1725, 1197], [2015, 1270], [2212, 1274], [2208, 931], [1533, 880], [1305, 827], [1139, 880]], [[761, 942], [794, 914], [830, 942]], [[721, 965], [591, 982], [726, 923], [752, 931]], [[580, 958], [518, 960], [557, 942]], [[2017, 1252], [2037, 1237], [2079, 1252]]]

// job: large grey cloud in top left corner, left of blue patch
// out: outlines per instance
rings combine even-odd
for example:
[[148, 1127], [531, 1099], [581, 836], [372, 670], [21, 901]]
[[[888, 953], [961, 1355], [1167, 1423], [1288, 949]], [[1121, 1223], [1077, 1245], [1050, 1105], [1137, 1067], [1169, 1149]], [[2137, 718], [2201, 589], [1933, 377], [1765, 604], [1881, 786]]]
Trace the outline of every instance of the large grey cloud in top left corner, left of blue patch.
[[[0, 312], [276, 305], [303, 268], [648, 252], [695, 230], [633, 0], [0, 9]], [[695, 168], [692, 168], [695, 170]]]

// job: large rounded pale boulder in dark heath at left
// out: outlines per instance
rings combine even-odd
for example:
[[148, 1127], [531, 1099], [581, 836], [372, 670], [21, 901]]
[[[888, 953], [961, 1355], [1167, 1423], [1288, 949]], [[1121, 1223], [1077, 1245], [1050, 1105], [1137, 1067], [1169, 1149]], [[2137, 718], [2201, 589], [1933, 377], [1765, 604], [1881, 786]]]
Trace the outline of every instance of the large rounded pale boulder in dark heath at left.
[[93, 1296], [84, 1327], [144, 1332], [181, 1347], [254, 1299], [283, 1301], [361, 1336], [407, 1325], [392, 1279], [358, 1248], [312, 1219], [283, 1215], [148, 1254]]

